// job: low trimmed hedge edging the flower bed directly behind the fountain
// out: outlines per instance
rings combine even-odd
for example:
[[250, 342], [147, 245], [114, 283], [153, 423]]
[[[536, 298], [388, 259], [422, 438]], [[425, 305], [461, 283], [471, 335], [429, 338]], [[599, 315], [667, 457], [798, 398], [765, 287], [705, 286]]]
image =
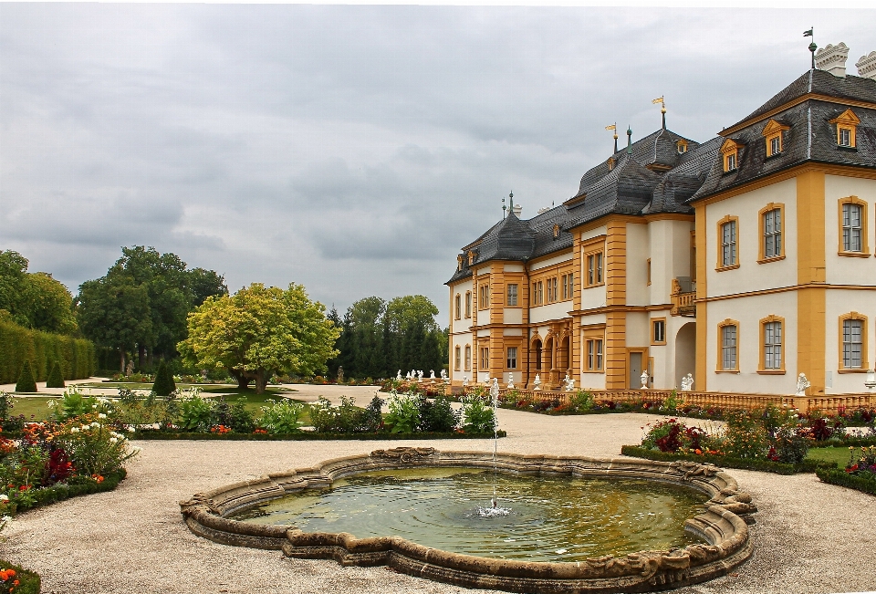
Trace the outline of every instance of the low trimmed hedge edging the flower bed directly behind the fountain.
[[[506, 437], [507, 432], [499, 431], [499, 437]], [[391, 441], [402, 439], [492, 439], [493, 433], [317, 433], [303, 431], [287, 435], [270, 435], [268, 433], [187, 433], [168, 431], [141, 431], [128, 433], [128, 439], [142, 440], [225, 440], [232, 442], [306, 442], [306, 441]]]

